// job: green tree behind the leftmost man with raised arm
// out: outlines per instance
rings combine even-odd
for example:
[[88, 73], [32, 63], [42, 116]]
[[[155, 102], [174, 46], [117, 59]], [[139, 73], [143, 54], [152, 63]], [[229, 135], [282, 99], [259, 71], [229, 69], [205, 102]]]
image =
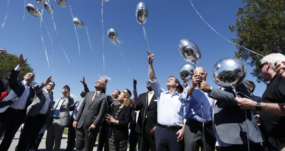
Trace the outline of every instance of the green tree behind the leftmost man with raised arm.
[[[19, 56], [16, 56], [15, 54], [5, 54], [0, 57], [0, 79], [4, 83], [5, 91], [8, 90], [8, 77], [12, 71], [13, 68], [15, 68], [19, 64]], [[24, 76], [27, 73], [32, 72], [34, 69], [26, 62], [23, 64], [23, 67], [21, 69], [21, 72], [18, 75], [18, 78], [23, 81]], [[35, 73], [34, 73], [35, 74]], [[36, 76], [35, 76], [36, 77]], [[31, 85], [37, 85], [35, 81], [32, 81]]]

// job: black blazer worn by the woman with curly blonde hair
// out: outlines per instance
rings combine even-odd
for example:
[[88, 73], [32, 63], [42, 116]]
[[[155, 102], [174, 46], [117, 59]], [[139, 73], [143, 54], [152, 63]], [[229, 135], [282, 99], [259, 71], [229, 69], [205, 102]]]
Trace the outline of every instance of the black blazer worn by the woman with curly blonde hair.
[[[116, 111], [119, 109], [120, 105], [116, 105], [111, 113], [111, 116], [115, 117]], [[117, 120], [119, 125], [111, 123], [109, 128], [109, 134], [111, 135], [112, 127], [115, 127], [115, 139], [128, 139], [129, 138], [129, 123], [133, 120], [132, 118], [132, 107], [131, 105], [126, 107], [123, 106], [118, 114]]]

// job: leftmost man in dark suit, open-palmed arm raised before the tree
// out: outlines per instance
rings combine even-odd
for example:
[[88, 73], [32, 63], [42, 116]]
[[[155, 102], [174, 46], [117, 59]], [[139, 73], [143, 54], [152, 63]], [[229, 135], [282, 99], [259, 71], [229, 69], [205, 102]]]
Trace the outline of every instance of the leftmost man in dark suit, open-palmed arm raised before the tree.
[[27, 59], [20, 54], [19, 65], [9, 75], [8, 95], [0, 103], [0, 136], [6, 130], [0, 144], [1, 151], [9, 149], [17, 130], [25, 121], [28, 103], [34, 95], [34, 89], [30, 85], [34, 81], [34, 74], [26, 74], [23, 81], [18, 79], [19, 72]]

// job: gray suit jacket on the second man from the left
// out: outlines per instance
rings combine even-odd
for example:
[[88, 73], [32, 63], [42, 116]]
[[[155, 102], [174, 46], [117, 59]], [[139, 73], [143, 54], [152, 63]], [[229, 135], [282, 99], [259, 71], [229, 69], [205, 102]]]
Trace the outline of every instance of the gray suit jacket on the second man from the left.
[[[46, 102], [46, 98], [48, 97], [48, 93], [46, 93], [46, 91], [44, 91], [44, 89], [42, 89], [44, 87], [44, 83], [40, 83], [39, 85], [37, 85], [35, 87], [35, 97], [34, 100], [32, 101], [32, 104], [28, 106], [27, 108], [27, 115], [34, 117], [36, 116], [40, 110], [42, 109], [42, 107], [44, 106], [44, 103]], [[50, 109], [52, 108], [52, 100], [53, 100], [53, 96], [50, 95], [50, 103], [48, 105], [48, 112], [46, 113], [46, 122], [48, 121], [48, 117], [50, 115]]]

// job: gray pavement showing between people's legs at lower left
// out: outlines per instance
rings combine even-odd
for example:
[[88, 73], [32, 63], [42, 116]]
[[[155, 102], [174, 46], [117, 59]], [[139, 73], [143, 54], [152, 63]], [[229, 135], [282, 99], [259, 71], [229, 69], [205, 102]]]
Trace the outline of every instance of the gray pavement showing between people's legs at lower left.
[[[8, 151], [15, 151], [15, 147], [17, 146], [18, 144], [18, 141], [19, 141], [19, 136], [20, 136], [20, 130], [21, 128], [18, 130], [18, 132], [16, 133], [12, 143], [11, 143], [11, 146], [9, 148]], [[0, 143], [2, 142], [2, 140], [0, 140]], [[44, 133], [44, 136], [42, 138], [42, 142], [40, 142], [40, 146], [38, 147], [38, 151], [45, 151], [46, 149], [46, 132]], [[98, 142], [96, 142], [94, 148], [93, 148], [93, 151], [97, 151], [97, 144]], [[65, 151], [65, 148], [67, 146], [67, 135], [65, 134], [62, 134], [62, 140], [61, 140], [61, 145], [60, 145], [60, 151]], [[75, 149], [74, 149], [75, 151]], [[127, 149], [127, 151], [129, 151], [129, 148]]]

